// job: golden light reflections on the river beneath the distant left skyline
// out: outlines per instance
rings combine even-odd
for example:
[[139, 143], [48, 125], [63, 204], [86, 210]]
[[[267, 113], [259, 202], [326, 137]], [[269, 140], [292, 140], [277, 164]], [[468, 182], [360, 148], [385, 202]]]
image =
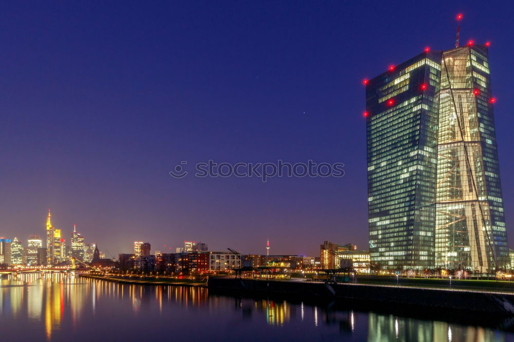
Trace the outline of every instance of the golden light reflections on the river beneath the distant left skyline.
[[[0, 314], [17, 317], [26, 313], [27, 319], [41, 321], [48, 340], [61, 329], [64, 319], [75, 331], [81, 316], [87, 314], [86, 305], [95, 316], [105, 298], [128, 299], [135, 313], [143, 303], [153, 302], [152, 298], [161, 313], [163, 297], [183, 308], [208, 303], [207, 290], [202, 288], [127, 285], [77, 277], [71, 272], [11, 274], [0, 279], [0, 286]], [[280, 315], [278, 312], [277, 317]]]

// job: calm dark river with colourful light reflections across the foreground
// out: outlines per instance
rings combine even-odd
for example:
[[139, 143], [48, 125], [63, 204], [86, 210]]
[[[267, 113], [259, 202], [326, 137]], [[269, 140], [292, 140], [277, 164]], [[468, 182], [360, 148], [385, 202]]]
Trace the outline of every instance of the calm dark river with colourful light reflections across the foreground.
[[409, 309], [372, 312], [59, 274], [4, 276], [0, 284], [2, 341], [514, 341], [505, 331], [512, 319], [491, 325], [483, 317], [481, 325], [476, 315], [467, 324]]

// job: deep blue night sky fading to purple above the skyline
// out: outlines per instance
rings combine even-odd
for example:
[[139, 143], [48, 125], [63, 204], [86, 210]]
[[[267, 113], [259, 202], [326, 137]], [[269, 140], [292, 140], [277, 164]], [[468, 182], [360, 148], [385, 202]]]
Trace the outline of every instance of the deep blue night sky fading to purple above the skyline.
[[[424, 7], [424, 6], [427, 7]], [[508, 234], [514, 239], [510, 2], [3, 2], [0, 235], [77, 223], [132, 241], [318, 255], [368, 246], [362, 79], [461, 41], [491, 42]], [[343, 162], [342, 178], [174, 179], [218, 162]], [[511, 243], [512, 245], [512, 243]]]

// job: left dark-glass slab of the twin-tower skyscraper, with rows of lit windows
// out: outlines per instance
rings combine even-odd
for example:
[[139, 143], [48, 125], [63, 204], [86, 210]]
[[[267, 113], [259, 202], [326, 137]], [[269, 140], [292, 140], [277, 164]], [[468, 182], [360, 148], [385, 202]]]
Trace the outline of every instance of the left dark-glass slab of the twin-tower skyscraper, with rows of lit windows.
[[433, 266], [440, 52], [366, 83], [370, 257], [381, 269]]

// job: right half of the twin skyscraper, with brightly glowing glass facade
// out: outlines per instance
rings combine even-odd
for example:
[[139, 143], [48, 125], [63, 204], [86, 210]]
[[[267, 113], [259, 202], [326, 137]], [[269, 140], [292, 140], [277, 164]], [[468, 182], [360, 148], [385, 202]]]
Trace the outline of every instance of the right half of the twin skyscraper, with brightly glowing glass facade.
[[435, 224], [436, 267], [487, 272], [508, 263], [488, 53], [442, 54]]

